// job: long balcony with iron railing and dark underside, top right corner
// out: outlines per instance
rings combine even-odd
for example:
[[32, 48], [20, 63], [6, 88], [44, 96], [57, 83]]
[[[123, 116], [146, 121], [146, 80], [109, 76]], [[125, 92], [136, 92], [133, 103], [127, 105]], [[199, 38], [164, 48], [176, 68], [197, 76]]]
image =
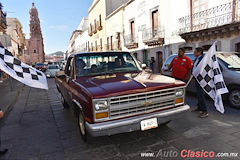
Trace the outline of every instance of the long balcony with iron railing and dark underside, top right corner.
[[178, 34], [185, 40], [203, 40], [230, 36], [240, 29], [238, 3], [225, 3], [178, 20]]

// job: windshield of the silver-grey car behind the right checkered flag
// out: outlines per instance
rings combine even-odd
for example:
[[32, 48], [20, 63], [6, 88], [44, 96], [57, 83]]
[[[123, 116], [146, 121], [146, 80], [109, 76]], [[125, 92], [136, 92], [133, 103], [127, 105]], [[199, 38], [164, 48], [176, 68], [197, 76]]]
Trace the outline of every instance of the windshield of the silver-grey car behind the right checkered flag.
[[218, 53], [217, 57], [222, 60], [228, 69], [240, 69], [240, 58], [236, 53]]

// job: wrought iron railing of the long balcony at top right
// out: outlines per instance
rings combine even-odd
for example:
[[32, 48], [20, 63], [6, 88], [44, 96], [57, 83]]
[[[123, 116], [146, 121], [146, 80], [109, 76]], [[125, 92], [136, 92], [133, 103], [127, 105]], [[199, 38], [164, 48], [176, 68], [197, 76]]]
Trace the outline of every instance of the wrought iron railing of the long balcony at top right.
[[238, 8], [239, 1], [240, 0], [225, 3], [193, 15], [179, 18], [178, 23], [180, 29], [178, 34], [239, 22], [240, 13], [234, 11]]

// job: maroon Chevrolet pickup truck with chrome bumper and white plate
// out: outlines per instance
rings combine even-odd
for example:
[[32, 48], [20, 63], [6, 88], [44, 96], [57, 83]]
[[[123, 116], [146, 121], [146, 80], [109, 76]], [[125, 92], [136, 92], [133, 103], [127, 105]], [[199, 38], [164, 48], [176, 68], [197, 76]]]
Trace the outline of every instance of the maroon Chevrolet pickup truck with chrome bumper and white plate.
[[78, 117], [84, 141], [155, 128], [190, 108], [184, 82], [145, 72], [129, 52], [71, 55], [55, 82], [63, 106]]

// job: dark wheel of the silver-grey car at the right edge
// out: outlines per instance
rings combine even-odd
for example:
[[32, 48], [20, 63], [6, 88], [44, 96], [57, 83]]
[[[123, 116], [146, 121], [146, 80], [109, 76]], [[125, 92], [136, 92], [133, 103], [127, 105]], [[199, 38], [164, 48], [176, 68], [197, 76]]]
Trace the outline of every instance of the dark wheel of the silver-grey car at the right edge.
[[235, 86], [229, 89], [228, 102], [232, 108], [240, 109], [240, 87]]

